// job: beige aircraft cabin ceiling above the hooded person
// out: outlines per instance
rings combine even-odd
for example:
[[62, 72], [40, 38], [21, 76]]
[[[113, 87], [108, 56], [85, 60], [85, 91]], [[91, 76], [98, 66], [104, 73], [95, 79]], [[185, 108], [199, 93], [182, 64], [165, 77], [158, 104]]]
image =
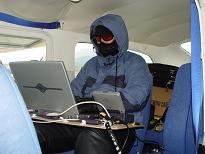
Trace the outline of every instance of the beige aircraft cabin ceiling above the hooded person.
[[157, 46], [188, 40], [189, 0], [6, 0], [0, 12], [38, 22], [63, 21], [63, 29], [89, 34], [92, 21], [121, 15], [132, 42]]

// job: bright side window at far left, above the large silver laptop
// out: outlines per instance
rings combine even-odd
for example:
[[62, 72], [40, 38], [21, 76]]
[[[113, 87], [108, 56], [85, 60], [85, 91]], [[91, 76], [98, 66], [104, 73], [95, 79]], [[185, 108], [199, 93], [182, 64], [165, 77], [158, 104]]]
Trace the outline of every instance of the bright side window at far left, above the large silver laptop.
[[12, 37], [0, 34], [0, 60], [9, 69], [9, 62], [45, 60], [46, 43], [41, 39]]

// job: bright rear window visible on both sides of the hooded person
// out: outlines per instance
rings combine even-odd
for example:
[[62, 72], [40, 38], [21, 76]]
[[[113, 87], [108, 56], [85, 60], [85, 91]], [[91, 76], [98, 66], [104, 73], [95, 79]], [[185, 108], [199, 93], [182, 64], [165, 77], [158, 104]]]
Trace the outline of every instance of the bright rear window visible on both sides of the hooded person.
[[[152, 59], [143, 53], [129, 50], [135, 54], [142, 56], [147, 63], [153, 63]], [[75, 76], [80, 71], [81, 67], [92, 57], [96, 56], [95, 49], [91, 43], [77, 43], [75, 47]]]

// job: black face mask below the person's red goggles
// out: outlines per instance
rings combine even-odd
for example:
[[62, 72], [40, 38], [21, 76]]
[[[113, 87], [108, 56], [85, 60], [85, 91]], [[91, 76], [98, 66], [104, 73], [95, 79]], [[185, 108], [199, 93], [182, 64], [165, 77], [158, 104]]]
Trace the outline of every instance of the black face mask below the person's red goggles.
[[113, 41], [110, 44], [105, 44], [101, 42], [100, 44], [96, 44], [96, 46], [103, 57], [107, 57], [109, 55], [114, 56], [119, 52], [116, 41]]

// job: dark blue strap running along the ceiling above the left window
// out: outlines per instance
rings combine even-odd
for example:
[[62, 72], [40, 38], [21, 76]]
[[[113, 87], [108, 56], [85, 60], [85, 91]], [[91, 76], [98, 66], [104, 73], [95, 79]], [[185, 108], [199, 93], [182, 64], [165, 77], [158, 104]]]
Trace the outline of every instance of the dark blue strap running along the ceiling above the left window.
[[2, 13], [2, 12], [0, 12], [0, 21], [21, 25], [21, 26], [43, 28], [43, 29], [57, 29], [60, 27], [60, 22], [51, 22], [51, 23], [33, 22], [6, 13]]

